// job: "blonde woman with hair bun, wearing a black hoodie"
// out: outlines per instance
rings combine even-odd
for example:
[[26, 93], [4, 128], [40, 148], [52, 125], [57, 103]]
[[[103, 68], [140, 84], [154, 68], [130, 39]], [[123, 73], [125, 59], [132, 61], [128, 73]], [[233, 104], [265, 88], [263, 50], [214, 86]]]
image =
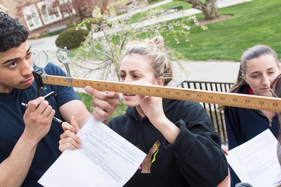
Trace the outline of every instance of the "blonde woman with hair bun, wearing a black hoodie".
[[[129, 42], [119, 68], [120, 82], [167, 86], [173, 78], [162, 36]], [[85, 90], [93, 95], [93, 116], [147, 154], [124, 186], [208, 187], [228, 175], [219, 134], [199, 103], [122, 93], [126, 113], [108, 122], [118, 94]], [[61, 136], [60, 150], [80, 148], [78, 137], [67, 134]]]

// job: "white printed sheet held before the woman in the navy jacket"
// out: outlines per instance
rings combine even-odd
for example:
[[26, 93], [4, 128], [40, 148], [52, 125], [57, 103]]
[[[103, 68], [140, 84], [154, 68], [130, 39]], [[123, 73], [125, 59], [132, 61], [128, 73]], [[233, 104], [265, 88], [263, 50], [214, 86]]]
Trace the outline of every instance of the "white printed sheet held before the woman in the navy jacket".
[[277, 139], [267, 129], [228, 151], [226, 158], [242, 182], [254, 187], [274, 187], [281, 179], [277, 145]]

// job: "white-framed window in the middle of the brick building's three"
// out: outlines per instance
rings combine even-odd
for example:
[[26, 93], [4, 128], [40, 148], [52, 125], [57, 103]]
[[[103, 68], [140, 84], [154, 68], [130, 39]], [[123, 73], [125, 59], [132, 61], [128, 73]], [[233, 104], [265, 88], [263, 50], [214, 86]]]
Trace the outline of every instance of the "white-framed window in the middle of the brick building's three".
[[62, 19], [62, 14], [56, 1], [41, 1], [37, 3], [43, 22], [49, 24]]

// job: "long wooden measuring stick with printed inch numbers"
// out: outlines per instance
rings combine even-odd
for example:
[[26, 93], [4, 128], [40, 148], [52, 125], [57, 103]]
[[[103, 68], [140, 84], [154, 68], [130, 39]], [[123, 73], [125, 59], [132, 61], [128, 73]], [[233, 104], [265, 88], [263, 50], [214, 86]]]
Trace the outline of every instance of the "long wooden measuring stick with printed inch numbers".
[[46, 81], [44, 79], [42, 79], [42, 81], [44, 84], [71, 86], [77, 88], [91, 86], [94, 89], [104, 91], [114, 91], [119, 93], [155, 96], [161, 98], [180, 99], [232, 107], [281, 112], [281, 98], [80, 78], [72, 78], [70, 84], [66, 77], [53, 75], [47, 75]]

